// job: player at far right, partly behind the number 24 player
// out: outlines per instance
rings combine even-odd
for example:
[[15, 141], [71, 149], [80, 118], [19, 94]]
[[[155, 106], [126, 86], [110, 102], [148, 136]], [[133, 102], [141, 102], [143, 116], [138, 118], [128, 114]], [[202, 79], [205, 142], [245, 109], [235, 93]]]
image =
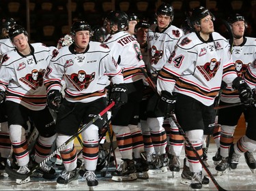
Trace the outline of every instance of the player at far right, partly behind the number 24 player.
[[[233, 39], [229, 39], [231, 46], [231, 58], [236, 65], [238, 76], [245, 77], [245, 80], [251, 88], [255, 88], [255, 69], [254, 60], [256, 59], [255, 38], [244, 37], [244, 31], [247, 24], [244, 16], [233, 14], [229, 16], [227, 22], [233, 33]], [[249, 69], [248, 66], [251, 65]], [[246, 73], [246, 75], [244, 75]], [[232, 91], [231, 88], [223, 91], [220, 105], [240, 103], [239, 92]], [[235, 132], [238, 120], [241, 114], [244, 114], [246, 120], [246, 134], [231, 147], [231, 169], [236, 169], [241, 154], [244, 154], [246, 163], [250, 169], [256, 168], [253, 151], [256, 148], [255, 125], [256, 118], [255, 107], [246, 107], [246, 105], [238, 105], [220, 109], [218, 111], [218, 123], [221, 124], [221, 163], [216, 166], [217, 171], [225, 171], [229, 167], [229, 147], [233, 143], [233, 133]], [[234, 151], [233, 151], [234, 150]], [[233, 153], [233, 155], [232, 155]]]

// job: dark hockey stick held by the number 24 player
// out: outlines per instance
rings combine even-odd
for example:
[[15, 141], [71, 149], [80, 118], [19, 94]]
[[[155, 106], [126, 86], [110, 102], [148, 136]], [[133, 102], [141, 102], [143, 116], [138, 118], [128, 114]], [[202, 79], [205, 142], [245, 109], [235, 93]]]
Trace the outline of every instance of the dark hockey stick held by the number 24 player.
[[[150, 84], [150, 86], [153, 88], [154, 92], [157, 92], [156, 90], [156, 86], [153, 84], [152, 80], [150, 79], [150, 77], [147, 75], [147, 73], [145, 72], [145, 70], [141, 69], [141, 71], [143, 72], [143, 74], [145, 75], [145, 79], [147, 80], [147, 82]], [[160, 97], [160, 95], [158, 94], [158, 97]], [[214, 185], [216, 186], [216, 188], [218, 190], [225, 190], [224, 188], [222, 188], [218, 182], [216, 181], [216, 179], [214, 178], [214, 176], [212, 175], [212, 173], [210, 172], [210, 170], [208, 169], [208, 167], [205, 165], [205, 163], [203, 162], [202, 158], [199, 156], [197, 150], [195, 150], [195, 147], [192, 145], [192, 143], [190, 142], [190, 140], [188, 139], [188, 137], [186, 137], [186, 134], [184, 133], [182, 127], [180, 126], [180, 124], [177, 122], [175, 116], [173, 113], [171, 113], [171, 119], [173, 120], [173, 122], [176, 124], [177, 128], [180, 131], [180, 134], [184, 137], [184, 139], [186, 140], [186, 142], [188, 143], [188, 145], [191, 147], [191, 149], [193, 150], [194, 154], [197, 156], [197, 159], [199, 160], [199, 162], [201, 163], [203, 169], [205, 169], [206, 173], [208, 173], [208, 176], [210, 177], [210, 179], [212, 179], [212, 182], [214, 183]]]

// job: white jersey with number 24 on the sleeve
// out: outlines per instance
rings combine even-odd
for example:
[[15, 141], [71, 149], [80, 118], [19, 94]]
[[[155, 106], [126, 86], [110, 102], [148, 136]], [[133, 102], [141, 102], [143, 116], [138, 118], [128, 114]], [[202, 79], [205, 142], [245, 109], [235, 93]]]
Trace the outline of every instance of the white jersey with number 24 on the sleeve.
[[221, 80], [231, 86], [237, 77], [227, 39], [212, 33], [208, 41], [196, 33], [180, 38], [177, 48], [158, 75], [157, 89], [179, 92], [212, 105]]

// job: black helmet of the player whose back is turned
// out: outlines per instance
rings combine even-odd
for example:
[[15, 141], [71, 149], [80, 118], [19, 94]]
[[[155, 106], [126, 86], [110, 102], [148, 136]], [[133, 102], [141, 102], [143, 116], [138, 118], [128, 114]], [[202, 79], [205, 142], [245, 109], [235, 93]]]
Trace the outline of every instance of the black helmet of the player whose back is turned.
[[110, 26], [113, 27], [114, 24], [117, 24], [118, 31], [124, 31], [128, 27], [128, 15], [122, 11], [111, 11], [106, 20], [110, 22]]

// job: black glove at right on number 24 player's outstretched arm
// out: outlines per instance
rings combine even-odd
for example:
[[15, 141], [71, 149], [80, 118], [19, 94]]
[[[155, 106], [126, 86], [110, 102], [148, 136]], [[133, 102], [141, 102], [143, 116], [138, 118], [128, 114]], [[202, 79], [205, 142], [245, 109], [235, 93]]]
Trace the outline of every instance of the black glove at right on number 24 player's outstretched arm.
[[245, 107], [249, 107], [253, 103], [253, 92], [242, 77], [236, 77], [232, 82], [232, 87], [239, 92], [239, 97]]

